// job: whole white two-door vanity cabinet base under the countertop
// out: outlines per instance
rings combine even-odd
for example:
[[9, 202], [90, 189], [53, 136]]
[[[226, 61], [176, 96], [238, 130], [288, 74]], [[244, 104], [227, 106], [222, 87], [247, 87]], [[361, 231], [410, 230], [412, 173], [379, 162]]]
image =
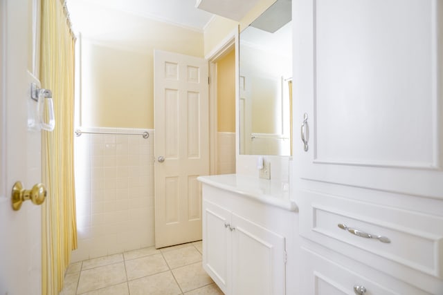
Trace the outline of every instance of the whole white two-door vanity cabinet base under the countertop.
[[225, 294], [287, 294], [287, 288], [293, 290], [286, 273], [293, 258], [296, 213], [251, 198], [248, 189], [240, 192], [237, 186], [220, 188], [205, 182], [218, 176], [199, 178], [204, 269]]

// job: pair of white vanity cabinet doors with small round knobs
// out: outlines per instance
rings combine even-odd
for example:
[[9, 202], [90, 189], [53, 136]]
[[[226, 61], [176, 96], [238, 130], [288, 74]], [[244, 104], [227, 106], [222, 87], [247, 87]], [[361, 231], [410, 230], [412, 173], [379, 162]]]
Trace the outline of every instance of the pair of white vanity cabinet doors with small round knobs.
[[284, 237], [203, 202], [204, 268], [225, 294], [284, 294]]

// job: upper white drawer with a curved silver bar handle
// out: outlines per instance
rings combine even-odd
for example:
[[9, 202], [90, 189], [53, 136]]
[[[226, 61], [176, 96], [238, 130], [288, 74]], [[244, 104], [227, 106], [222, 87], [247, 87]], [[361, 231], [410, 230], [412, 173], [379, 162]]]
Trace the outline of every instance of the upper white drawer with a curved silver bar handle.
[[442, 218], [308, 191], [299, 204], [301, 236], [404, 280], [442, 278]]

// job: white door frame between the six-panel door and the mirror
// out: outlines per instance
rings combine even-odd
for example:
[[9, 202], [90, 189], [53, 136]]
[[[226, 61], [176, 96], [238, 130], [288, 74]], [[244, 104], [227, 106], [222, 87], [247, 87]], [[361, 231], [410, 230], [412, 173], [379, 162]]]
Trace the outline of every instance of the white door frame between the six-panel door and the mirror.
[[[230, 53], [230, 50], [235, 50], [235, 99], [237, 100], [237, 73], [238, 73], [238, 50], [236, 44], [239, 35], [239, 26], [231, 31], [221, 42], [213, 48], [205, 59], [209, 64], [209, 173], [210, 175], [217, 174], [217, 62], [219, 59]], [[237, 117], [237, 102], [235, 103], [235, 117]], [[237, 120], [236, 120], [237, 121]], [[237, 127], [235, 129], [237, 132]], [[235, 143], [237, 151], [237, 142]]]

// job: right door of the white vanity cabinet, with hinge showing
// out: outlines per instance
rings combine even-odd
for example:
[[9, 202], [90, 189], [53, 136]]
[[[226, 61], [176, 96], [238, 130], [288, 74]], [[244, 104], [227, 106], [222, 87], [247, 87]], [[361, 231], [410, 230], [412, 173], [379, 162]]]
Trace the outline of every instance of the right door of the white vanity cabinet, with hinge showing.
[[285, 293], [285, 240], [240, 216], [231, 216], [234, 295]]

